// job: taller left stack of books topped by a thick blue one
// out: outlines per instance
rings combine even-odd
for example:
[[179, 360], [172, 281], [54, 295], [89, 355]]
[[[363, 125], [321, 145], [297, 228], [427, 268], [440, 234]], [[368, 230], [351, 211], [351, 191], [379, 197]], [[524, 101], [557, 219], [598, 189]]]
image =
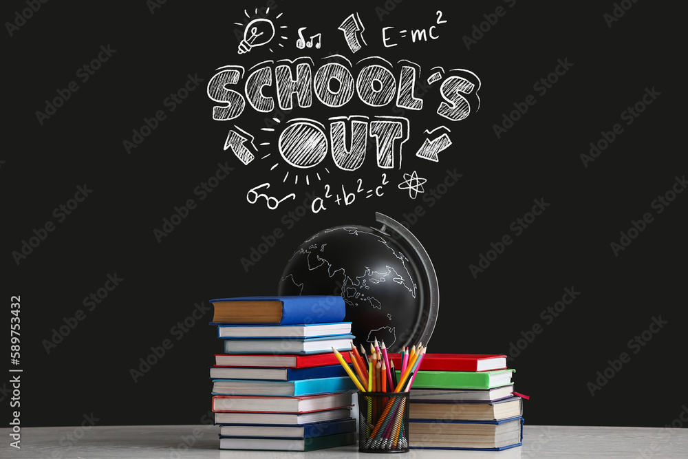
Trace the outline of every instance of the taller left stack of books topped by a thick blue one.
[[356, 386], [332, 353], [350, 350], [354, 338], [341, 297], [211, 303], [211, 325], [224, 345], [210, 368], [220, 449], [312, 451], [356, 443]]

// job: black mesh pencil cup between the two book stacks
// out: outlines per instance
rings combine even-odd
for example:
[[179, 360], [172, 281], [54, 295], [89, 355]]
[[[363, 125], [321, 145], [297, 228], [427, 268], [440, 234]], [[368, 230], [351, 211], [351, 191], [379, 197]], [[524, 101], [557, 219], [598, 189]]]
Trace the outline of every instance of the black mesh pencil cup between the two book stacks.
[[358, 451], [409, 452], [409, 392], [358, 392]]

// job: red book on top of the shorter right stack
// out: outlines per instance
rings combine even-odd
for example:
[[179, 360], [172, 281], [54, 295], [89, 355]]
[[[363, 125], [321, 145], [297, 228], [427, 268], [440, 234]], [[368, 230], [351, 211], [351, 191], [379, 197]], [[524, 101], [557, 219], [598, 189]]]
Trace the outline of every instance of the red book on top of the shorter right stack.
[[[401, 368], [401, 354], [388, 354], [394, 368]], [[418, 370], [436, 372], [487, 372], [506, 368], [504, 354], [425, 354]]]

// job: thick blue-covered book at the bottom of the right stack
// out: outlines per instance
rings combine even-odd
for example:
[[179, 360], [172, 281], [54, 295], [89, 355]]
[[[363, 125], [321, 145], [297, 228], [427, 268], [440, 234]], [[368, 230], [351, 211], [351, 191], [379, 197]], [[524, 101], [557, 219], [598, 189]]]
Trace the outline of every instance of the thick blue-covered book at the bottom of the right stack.
[[503, 420], [409, 419], [412, 449], [500, 451], [521, 446], [523, 418]]

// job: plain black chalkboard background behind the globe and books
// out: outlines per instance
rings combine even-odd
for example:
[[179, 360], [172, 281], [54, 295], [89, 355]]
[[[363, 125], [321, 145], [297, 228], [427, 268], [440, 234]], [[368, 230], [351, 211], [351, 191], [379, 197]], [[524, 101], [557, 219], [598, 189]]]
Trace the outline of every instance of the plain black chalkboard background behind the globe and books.
[[[518, 1], [509, 8], [498, 1], [388, 1], [394, 10], [380, 21], [375, 8], [385, 8], [383, 1], [279, 1], [290, 26], [285, 54], [270, 56], [263, 49], [239, 58], [233, 23], [244, 18], [244, 8], [264, 5], [167, 2], [151, 14], [144, 1], [50, 2], [3, 39], [8, 103], [0, 158], [6, 206], [2, 284], [7, 323], [10, 295], [21, 295], [23, 427], [78, 425], [90, 413], [100, 425], [200, 422], [210, 402], [207, 366], [219, 352], [205, 325], [210, 314], [182, 339], [171, 335], [194, 303], [275, 293], [283, 266], [306, 237], [338, 224], [374, 225], [376, 211], [405, 220], [419, 204], [425, 213], [411, 231], [427, 249], [440, 284], [431, 352], [508, 353], [522, 331], [540, 323], [541, 334], [510, 361], [516, 389], [532, 397], [524, 405], [527, 423], [660, 427], [678, 418], [686, 402], [678, 372], [685, 347], [688, 195], [679, 194], [661, 214], [650, 206], [686, 173], [685, 147], [678, 141], [685, 118], [679, 94], [685, 93], [669, 81], [681, 61], [672, 50], [680, 30], [671, 19], [676, 12], [638, 2], [610, 28], [603, 14], [612, 12], [612, 2]], [[466, 50], [462, 36], [497, 6], [506, 9], [504, 17]], [[2, 17], [14, 21], [24, 8], [23, 2], [6, 2]], [[448, 21], [438, 29], [438, 41], [382, 47], [380, 28], [427, 27], [436, 10]], [[298, 202], [276, 211], [246, 202], [246, 191], [260, 183], [266, 165], [244, 167], [223, 151], [230, 123], [211, 119], [214, 103], [205, 85], [223, 65], [250, 67], [305, 54], [293, 46], [301, 26], [327, 33], [319, 55], [339, 51], [353, 58], [336, 28], [354, 11], [369, 44], [356, 58], [380, 53], [390, 61], [416, 61], [424, 72], [442, 65], [480, 77], [480, 110], [451, 126], [454, 145], [440, 153], [438, 164], [417, 163], [426, 189], [440, 184], [447, 169], [463, 176], [432, 207], [395, 189], [397, 181], [382, 198], [309, 212], [286, 230], [281, 218]], [[100, 45], [116, 53], [39, 124], [35, 112], [45, 109], [45, 99], [77, 81], [76, 70], [98, 55]], [[565, 58], [574, 64], [570, 70], [497, 139], [493, 125], [502, 114], [536, 94], [533, 83]], [[187, 74], [204, 83], [127, 154], [122, 141], [131, 140], [144, 117], [166, 109], [163, 100], [184, 85]], [[661, 95], [626, 126], [621, 112], [641, 100], [646, 87]], [[263, 117], [249, 112], [236, 121], [257, 129]], [[330, 113], [320, 105], [301, 116], [324, 121]], [[579, 155], [617, 122], [623, 134], [586, 169]], [[411, 129], [413, 141], [420, 141], [420, 125]], [[153, 228], [174, 206], [196, 198], [193, 189], [215, 173], [218, 162], [234, 171], [158, 244]], [[347, 180], [354, 184], [359, 177], [379, 180], [380, 169], [368, 162]], [[92, 195], [17, 266], [12, 251], [21, 250], [34, 228], [56, 222], [53, 209], [83, 184]], [[309, 189], [294, 191], [303, 198]], [[550, 207], [474, 279], [469, 265], [491, 242], [513, 235], [510, 223], [535, 198]], [[619, 231], [645, 212], [653, 213], [654, 222], [615, 257], [610, 243], [619, 242]], [[246, 272], [241, 257], [275, 228], [284, 236]], [[84, 297], [114, 273], [124, 279], [121, 284], [48, 354], [43, 340], [63, 318], [85, 310]], [[581, 295], [545, 324], [541, 311], [559, 301], [564, 288]], [[653, 317], [668, 323], [633, 354], [627, 342], [647, 330]], [[172, 339], [173, 348], [134, 383], [129, 370], [164, 339]], [[586, 384], [621, 352], [630, 354], [630, 362], [591, 396]], [[1, 394], [5, 407], [7, 387]]]

